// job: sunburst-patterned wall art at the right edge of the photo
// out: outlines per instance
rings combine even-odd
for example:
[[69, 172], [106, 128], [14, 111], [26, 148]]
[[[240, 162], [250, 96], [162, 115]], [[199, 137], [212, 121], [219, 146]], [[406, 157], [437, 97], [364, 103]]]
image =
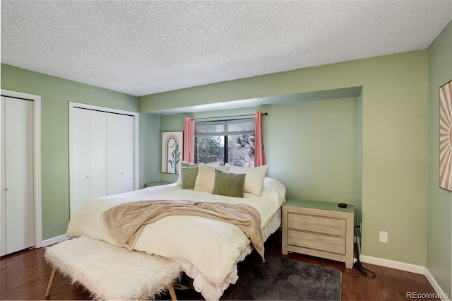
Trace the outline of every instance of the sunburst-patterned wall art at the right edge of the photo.
[[452, 81], [439, 88], [439, 187], [452, 191]]

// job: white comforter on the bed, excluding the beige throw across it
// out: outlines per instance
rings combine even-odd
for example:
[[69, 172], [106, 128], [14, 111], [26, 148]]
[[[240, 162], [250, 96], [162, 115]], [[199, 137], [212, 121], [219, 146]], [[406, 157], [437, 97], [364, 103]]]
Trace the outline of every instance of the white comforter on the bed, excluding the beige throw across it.
[[[275, 215], [280, 216], [285, 187], [267, 177], [260, 196], [244, 193], [244, 198], [181, 189], [175, 184], [104, 196], [86, 203], [71, 216], [66, 235], [86, 235], [119, 245], [109, 235], [102, 212], [130, 201], [181, 199], [247, 203], [259, 211], [261, 228], [264, 228]], [[275, 226], [270, 228], [271, 232], [276, 230]], [[263, 232], [265, 240], [270, 233]], [[194, 279], [195, 289], [207, 300], [218, 300], [227, 286], [237, 281], [237, 262], [251, 252], [249, 238], [237, 225], [198, 216], [168, 216], [146, 225], [134, 249], [179, 261], [186, 274]]]

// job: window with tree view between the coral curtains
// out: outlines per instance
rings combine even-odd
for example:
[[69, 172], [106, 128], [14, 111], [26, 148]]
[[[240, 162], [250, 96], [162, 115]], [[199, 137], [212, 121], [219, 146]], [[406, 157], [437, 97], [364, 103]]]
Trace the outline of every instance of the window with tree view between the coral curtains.
[[254, 119], [196, 122], [196, 163], [254, 167]]

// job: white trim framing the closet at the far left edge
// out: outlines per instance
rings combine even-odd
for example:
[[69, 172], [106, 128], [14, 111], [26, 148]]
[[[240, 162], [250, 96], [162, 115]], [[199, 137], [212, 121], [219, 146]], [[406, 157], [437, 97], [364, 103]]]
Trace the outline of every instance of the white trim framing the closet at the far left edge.
[[41, 212], [41, 97], [28, 93], [1, 89], [1, 95], [10, 98], [23, 98], [33, 101], [33, 171], [35, 204], [35, 248], [42, 247], [42, 212]]

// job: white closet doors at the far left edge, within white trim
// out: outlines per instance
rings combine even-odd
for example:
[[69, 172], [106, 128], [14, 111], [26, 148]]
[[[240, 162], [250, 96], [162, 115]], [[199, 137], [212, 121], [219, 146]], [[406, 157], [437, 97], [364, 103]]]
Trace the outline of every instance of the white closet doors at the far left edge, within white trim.
[[1, 254], [35, 245], [33, 102], [1, 97]]

